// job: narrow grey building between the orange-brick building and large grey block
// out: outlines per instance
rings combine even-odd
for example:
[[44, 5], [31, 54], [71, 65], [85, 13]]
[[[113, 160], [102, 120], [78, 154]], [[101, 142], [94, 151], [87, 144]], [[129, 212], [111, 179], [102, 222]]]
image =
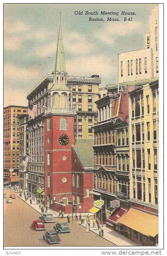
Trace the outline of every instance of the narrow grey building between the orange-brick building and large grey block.
[[27, 189], [28, 172], [22, 160], [24, 155], [28, 155], [28, 114], [21, 114], [17, 118], [19, 119], [19, 187]]

